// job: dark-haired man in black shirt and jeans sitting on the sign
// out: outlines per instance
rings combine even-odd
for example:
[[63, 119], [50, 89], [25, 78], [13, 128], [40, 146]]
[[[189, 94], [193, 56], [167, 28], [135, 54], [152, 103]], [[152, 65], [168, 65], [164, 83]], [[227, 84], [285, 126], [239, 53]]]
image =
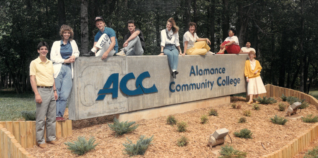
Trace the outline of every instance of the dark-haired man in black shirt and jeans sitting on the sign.
[[129, 33], [125, 35], [125, 43], [117, 56], [141, 56], [145, 50], [145, 39], [143, 38], [142, 31], [136, 29], [135, 21], [128, 20]]

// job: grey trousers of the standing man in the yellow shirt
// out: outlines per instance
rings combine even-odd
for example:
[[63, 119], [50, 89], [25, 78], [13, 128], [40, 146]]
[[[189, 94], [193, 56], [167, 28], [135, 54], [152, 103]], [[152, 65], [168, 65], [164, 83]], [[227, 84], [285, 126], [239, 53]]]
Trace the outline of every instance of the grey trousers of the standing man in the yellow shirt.
[[38, 88], [42, 98], [42, 104], [36, 103], [36, 139], [38, 144], [45, 143], [44, 125], [46, 117], [46, 141], [54, 141], [55, 122], [56, 122], [56, 101], [54, 98], [53, 88]]

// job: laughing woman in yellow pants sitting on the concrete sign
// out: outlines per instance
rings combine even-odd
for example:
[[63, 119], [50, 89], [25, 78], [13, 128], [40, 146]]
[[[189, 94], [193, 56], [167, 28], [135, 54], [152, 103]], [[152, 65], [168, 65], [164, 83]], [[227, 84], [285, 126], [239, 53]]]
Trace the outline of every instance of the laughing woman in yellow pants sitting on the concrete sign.
[[183, 35], [184, 53], [187, 55], [214, 54], [210, 52], [211, 48], [208, 46], [208, 43], [211, 44], [210, 40], [208, 38], [199, 38], [196, 31], [197, 24], [190, 22], [189, 31]]

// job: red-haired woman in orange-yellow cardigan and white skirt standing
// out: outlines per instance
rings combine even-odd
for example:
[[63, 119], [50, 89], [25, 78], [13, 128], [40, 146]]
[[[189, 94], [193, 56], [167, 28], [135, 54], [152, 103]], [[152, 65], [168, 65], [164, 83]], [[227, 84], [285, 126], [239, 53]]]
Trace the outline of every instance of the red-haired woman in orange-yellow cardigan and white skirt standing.
[[266, 93], [266, 89], [262, 79], [260, 78], [260, 71], [262, 67], [259, 64], [259, 61], [254, 59], [256, 57], [255, 52], [250, 51], [248, 56], [249, 60], [245, 61], [244, 75], [247, 82], [247, 95], [250, 96], [250, 100], [247, 104], [250, 104], [253, 102], [253, 95], [258, 97], [259, 94]]

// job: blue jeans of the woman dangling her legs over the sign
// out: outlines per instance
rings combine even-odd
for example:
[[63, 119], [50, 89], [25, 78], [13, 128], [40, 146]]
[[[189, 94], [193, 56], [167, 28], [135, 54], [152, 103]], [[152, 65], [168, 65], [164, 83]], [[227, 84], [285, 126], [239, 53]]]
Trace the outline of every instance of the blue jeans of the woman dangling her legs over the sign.
[[179, 52], [178, 49], [176, 49], [176, 46], [166, 44], [163, 48], [163, 54], [168, 56], [168, 63], [171, 70], [177, 70]]

